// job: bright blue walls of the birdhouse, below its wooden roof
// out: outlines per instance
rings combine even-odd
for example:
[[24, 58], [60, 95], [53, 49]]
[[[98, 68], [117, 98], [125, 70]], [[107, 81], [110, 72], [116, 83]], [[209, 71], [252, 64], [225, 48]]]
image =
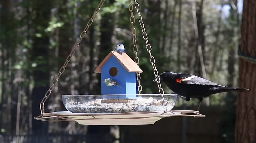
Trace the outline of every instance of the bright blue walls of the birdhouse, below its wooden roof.
[[[111, 76], [109, 73], [110, 68], [117, 68], [117, 75]], [[111, 78], [116, 81], [118, 86], [106, 86], [103, 81], [106, 78]], [[108, 61], [101, 67], [101, 94], [130, 94], [128, 95], [118, 95], [111, 96], [111, 98], [131, 98], [136, 97], [136, 73], [128, 72], [114, 56], [111, 56]], [[133, 94], [133, 95], [131, 95]]]

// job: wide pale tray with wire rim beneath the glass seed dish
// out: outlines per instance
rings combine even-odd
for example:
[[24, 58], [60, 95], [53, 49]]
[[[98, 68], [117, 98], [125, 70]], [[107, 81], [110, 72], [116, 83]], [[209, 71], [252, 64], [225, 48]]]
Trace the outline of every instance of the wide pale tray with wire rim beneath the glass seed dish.
[[[167, 112], [130, 112], [130, 113], [72, 113], [60, 111], [45, 113], [37, 117], [42, 121], [76, 121], [80, 125], [149, 125], [165, 117], [205, 117], [199, 111], [173, 110]], [[51, 118], [59, 120], [50, 120]]]

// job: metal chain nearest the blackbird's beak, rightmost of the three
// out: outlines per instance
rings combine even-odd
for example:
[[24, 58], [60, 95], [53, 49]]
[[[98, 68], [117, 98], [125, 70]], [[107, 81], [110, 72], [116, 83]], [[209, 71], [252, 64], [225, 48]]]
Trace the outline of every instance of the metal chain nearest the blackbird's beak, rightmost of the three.
[[[134, 7], [135, 7], [135, 9], [136, 9], [136, 11], [137, 11], [138, 19], [139, 19], [139, 24], [140, 24], [141, 30], [142, 30], [142, 37], [143, 37], [143, 39], [146, 41], [146, 49], [147, 49], [147, 51], [148, 51], [148, 53], [149, 53], [149, 60], [150, 60], [150, 62], [151, 62], [151, 65], [152, 65], [152, 67], [153, 67], [153, 70], [154, 70], [154, 75], [155, 75], [155, 79], [156, 79], [156, 82], [157, 82], [158, 91], [159, 91], [160, 95], [161, 95], [162, 98], [163, 98], [163, 102], [166, 103], [166, 107], [165, 107], [165, 111], [166, 111], [167, 106], [168, 106], [168, 103], [167, 103], [166, 100], [164, 100], [164, 97], [163, 97], [164, 91], [163, 91], [162, 85], [161, 85], [161, 83], [160, 83], [160, 77], [159, 77], [159, 75], [158, 75], [157, 67], [156, 67], [156, 65], [155, 65], [155, 57], [152, 56], [152, 54], [151, 54], [152, 48], [151, 48], [151, 45], [150, 45], [149, 42], [148, 42], [148, 35], [147, 35], [146, 30], [145, 30], [145, 26], [144, 26], [144, 23], [143, 23], [143, 21], [142, 21], [142, 16], [141, 16], [140, 11], [139, 11], [139, 3], [137, 3], [136, 0], [134, 0], [134, 2], [135, 2], [135, 3], [134, 3]], [[130, 8], [130, 7], [129, 7], [129, 8]], [[163, 106], [164, 106], [164, 104], [163, 104]]]

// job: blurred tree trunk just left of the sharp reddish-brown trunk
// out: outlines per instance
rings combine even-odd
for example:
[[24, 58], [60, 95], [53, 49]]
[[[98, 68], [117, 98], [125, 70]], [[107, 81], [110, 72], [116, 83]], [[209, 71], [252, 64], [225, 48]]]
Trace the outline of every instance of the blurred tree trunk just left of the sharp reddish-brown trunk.
[[[239, 43], [238, 34], [238, 21], [237, 20], [237, 0], [230, 0], [229, 2], [229, 17], [227, 18], [226, 26], [226, 40], [229, 44], [228, 49], [228, 66], [227, 66], [227, 86], [234, 87], [237, 71], [235, 70], [235, 63], [237, 61], [236, 49]], [[224, 143], [234, 142], [234, 132], [235, 132], [235, 118], [236, 118], [236, 99], [237, 92], [227, 92], [224, 101], [225, 114], [223, 119], [220, 121], [220, 134], [222, 136]]]

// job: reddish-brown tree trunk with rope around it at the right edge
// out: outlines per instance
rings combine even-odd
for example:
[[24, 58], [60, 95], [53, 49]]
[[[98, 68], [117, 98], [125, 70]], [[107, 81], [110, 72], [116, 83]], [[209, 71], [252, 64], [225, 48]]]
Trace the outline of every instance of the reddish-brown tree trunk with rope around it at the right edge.
[[[256, 1], [244, 0], [241, 51], [239, 59], [239, 87], [248, 88], [249, 92], [239, 93], [236, 111], [236, 143], [256, 142]], [[242, 57], [249, 57], [247, 60]], [[254, 60], [253, 60], [254, 59]], [[253, 62], [254, 61], [254, 62]]]

